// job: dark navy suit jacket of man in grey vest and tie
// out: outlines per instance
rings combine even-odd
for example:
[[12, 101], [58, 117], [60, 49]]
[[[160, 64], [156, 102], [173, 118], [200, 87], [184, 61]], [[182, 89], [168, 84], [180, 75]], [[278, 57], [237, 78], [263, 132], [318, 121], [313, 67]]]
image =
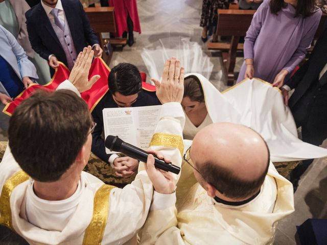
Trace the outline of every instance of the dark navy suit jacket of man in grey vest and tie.
[[[99, 44], [99, 40], [90, 27], [90, 23], [78, 0], [62, 0], [62, 8], [71, 30], [76, 53], [83, 51], [87, 45]], [[51, 54], [67, 65], [65, 52], [62, 44], [51, 26], [41, 3], [26, 12], [26, 23], [29, 38], [36, 53], [43, 59], [48, 60]]]

